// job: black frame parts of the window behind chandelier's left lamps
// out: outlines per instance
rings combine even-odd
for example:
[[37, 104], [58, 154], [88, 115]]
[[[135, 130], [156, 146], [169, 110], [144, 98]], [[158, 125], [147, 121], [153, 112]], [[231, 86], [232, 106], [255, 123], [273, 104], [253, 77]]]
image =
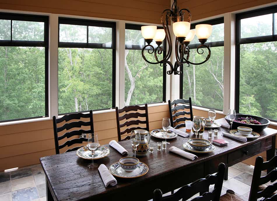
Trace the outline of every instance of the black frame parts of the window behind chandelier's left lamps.
[[[129, 29], [129, 30], [141, 30], [141, 27], [145, 26], [145, 25], [137, 25], [137, 24], [129, 24], [129, 23], [125, 23], [125, 30]], [[163, 27], [157, 27], [157, 29], [163, 29]], [[145, 39], [144, 39], [144, 45], [146, 45]], [[166, 38], [163, 41], [163, 58], [166, 56]], [[125, 49], [129, 49], [129, 50], [142, 50], [142, 47], [140, 47], [139, 45], [132, 45], [132, 47], [126, 47], [125, 45]], [[157, 64], [158, 65], [158, 64]], [[155, 102], [155, 103], [147, 103], [149, 104], [156, 104], [156, 103], [165, 103], [166, 102], [166, 65], [163, 64], [163, 95], [162, 95], [162, 102]], [[144, 103], [145, 104], [145, 103]], [[138, 104], [138, 105], [144, 105], [144, 104]]]

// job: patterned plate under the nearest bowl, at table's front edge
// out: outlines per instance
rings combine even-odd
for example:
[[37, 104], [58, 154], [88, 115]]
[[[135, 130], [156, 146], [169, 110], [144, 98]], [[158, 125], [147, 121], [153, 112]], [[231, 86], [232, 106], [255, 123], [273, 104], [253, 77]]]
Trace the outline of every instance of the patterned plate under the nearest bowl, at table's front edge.
[[143, 162], [139, 162], [138, 167], [134, 171], [126, 172], [120, 167], [119, 162], [117, 162], [111, 164], [109, 171], [113, 176], [120, 178], [136, 178], [145, 175], [148, 172], [148, 166]]

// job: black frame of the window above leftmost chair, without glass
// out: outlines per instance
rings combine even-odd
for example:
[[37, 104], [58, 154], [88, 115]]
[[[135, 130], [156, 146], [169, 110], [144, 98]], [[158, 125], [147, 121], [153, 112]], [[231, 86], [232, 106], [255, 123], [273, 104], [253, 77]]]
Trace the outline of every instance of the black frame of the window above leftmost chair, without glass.
[[[59, 30], [60, 30], [60, 24], [66, 24], [66, 25], [82, 25], [87, 27], [87, 42], [86, 43], [76, 43], [76, 42], [60, 42], [59, 41]], [[89, 43], [88, 38], [88, 27], [108, 27], [112, 28], [112, 44], [111, 47], [105, 47], [104, 44], [99, 43]], [[110, 110], [115, 108], [115, 76], [116, 76], [116, 22], [107, 22], [107, 21], [100, 21], [100, 20], [86, 20], [86, 19], [78, 19], [78, 18], [62, 18], [59, 17], [58, 19], [58, 48], [95, 48], [95, 49], [112, 49], [112, 107], [111, 108], [101, 108], [101, 109], [95, 109], [93, 111], [99, 111], [99, 110]], [[59, 82], [59, 80], [58, 80]], [[58, 84], [59, 86], [59, 84]], [[59, 94], [58, 96], [58, 104], [59, 104]], [[58, 106], [59, 107], [59, 106]], [[79, 111], [79, 112], [89, 112], [90, 110], [86, 111]], [[72, 113], [78, 113], [78, 112], [68, 112], [68, 113], [59, 113], [58, 115], [68, 115]]]

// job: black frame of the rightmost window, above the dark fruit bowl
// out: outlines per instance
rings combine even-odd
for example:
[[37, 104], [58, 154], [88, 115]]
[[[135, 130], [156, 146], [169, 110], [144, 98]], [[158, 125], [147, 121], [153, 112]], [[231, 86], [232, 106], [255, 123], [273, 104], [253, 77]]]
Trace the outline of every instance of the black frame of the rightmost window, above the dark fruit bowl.
[[[263, 43], [277, 41], [277, 33], [275, 33], [275, 13], [277, 13], [277, 6], [270, 6], [257, 10], [247, 11], [236, 14], [236, 52], [235, 52], [235, 110], [239, 113], [239, 84], [240, 84], [240, 45], [251, 43]], [[241, 20], [245, 18], [257, 17], [260, 15], [272, 14], [272, 34], [268, 36], [257, 36], [241, 38]], [[277, 122], [277, 119], [270, 119], [270, 121]]]

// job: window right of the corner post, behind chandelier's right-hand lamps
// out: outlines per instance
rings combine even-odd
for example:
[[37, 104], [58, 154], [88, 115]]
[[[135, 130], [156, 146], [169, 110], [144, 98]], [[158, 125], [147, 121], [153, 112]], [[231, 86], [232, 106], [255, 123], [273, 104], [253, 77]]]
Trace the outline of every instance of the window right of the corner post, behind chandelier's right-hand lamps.
[[[211, 49], [211, 58], [201, 65], [184, 64], [180, 67], [183, 74], [180, 75], [180, 98], [191, 97], [192, 104], [204, 108], [223, 110], [223, 72], [224, 72], [224, 19], [199, 22], [197, 24], [211, 24], [213, 31], [205, 43]], [[195, 29], [192, 24], [191, 29]], [[190, 58], [194, 63], [205, 60], [207, 49], [203, 54], [197, 53], [200, 45], [197, 36], [190, 42]], [[201, 50], [200, 50], [201, 51]]]

